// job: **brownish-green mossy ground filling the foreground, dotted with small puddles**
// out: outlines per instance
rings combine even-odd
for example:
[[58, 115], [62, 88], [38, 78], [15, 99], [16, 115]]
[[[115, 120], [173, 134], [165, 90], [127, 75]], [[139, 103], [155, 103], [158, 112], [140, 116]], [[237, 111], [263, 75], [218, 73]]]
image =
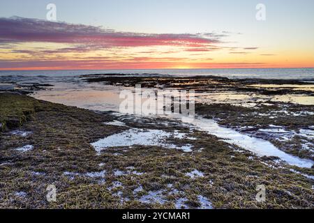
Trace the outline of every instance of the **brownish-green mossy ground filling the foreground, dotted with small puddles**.
[[[0, 208], [201, 208], [200, 196], [213, 208], [314, 208], [313, 180], [289, 170], [313, 175], [313, 168], [279, 168], [205, 132], [156, 122], [189, 134], [168, 140], [193, 151], [133, 146], [97, 154], [92, 142], [150, 125], [105, 125], [117, 117], [13, 93], [0, 93], [0, 105]], [[25, 145], [33, 149], [15, 150]], [[202, 176], [186, 175], [193, 170]], [[47, 185], [57, 187], [57, 201], [47, 201]], [[266, 187], [264, 202], [255, 200], [257, 185]], [[151, 194], [158, 195], [145, 199]]]

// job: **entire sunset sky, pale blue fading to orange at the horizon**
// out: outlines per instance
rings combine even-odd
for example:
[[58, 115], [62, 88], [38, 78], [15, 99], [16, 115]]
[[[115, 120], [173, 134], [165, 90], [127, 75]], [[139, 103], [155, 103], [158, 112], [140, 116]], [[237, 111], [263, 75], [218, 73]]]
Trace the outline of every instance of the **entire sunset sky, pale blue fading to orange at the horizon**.
[[[47, 20], [49, 3], [57, 21]], [[313, 68], [313, 8], [313, 0], [1, 0], [0, 70]]]

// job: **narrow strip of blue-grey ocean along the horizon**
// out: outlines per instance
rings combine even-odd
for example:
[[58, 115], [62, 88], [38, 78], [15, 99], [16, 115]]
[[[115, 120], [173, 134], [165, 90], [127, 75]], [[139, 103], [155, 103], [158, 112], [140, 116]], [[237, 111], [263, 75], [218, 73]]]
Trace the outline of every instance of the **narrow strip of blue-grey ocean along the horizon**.
[[22, 76], [76, 76], [90, 74], [159, 74], [191, 77], [197, 75], [215, 75], [231, 79], [263, 78], [263, 79], [314, 79], [314, 68], [237, 68], [237, 69], [157, 69], [157, 70], [0, 70], [0, 75]]

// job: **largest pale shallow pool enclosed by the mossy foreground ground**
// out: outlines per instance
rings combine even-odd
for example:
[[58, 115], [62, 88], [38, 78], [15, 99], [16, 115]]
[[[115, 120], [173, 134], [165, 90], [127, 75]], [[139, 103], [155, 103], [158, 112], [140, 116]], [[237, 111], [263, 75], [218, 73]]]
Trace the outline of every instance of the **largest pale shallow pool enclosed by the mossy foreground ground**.
[[165, 132], [163, 130], [141, 130], [133, 128], [121, 132], [119, 134], [112, 134], [105, 139], [100, 139], [91, 145], [94, 146], [95, 150], [100, 153], [100, 151], [106, 148], [112, 147], [130, 147], [130, 146], [160, 146], [165, 148], [176, 148], [182, 151], [190, 152], [192, 151], [192, 146], [176, 146], [174, 144], [168, 144], [165, 139], [168, 137], [179, 137], [182, 138], [182, 134], [179, 132]]

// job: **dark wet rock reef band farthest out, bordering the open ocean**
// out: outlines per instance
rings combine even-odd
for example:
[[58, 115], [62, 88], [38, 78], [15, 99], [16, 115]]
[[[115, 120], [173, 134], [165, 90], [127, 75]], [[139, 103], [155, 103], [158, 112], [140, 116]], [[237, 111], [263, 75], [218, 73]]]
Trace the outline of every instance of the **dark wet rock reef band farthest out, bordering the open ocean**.
[[[217, 76], [196, 76], [196, 77], [169, 77], [167, 75], [130, 75], [126, 74], [105, 74], [105, 75], [82, 75], [85, 82], [95, 83], [103, 82], [111, 85], [135, 86], [141, 84], [145, 88], [175, 88], [175, 89], [194, 89], [197, 92], [204, 91], [241, 91], [253, 92], [263, 95], [285, 95], [294, 94], [311, 94], [313, 91], [295, 90], [292, 87], [284, 87], [284, 84], [294, 85], [313, 85], [314, 83], [306, 82], [308, 80], [297, 79], [228, 79], [227, 77]], [[282, 85], [281, 89], [269, 89], [254, 84], [278, 84]]]

